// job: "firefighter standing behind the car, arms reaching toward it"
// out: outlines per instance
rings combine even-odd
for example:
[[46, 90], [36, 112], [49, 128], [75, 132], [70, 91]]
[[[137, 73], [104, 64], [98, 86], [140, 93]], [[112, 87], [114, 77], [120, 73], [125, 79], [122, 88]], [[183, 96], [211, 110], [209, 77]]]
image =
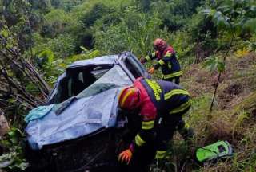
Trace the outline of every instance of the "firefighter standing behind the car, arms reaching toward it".
[[149, 56], [142, 57], [141, 62], [144, 64], [146, 61], [157, 59], [158, 63], [148, 71], [150, 74], [154, 73], [154, 70], [162, 68], [162, 80], [167, 80], [179, 84], [179, 78], [182, 76], [181, 66], [176, 57], [174, 48], [166, 44], [166, 41], [157, 38], [154, 40], [154, 53]]

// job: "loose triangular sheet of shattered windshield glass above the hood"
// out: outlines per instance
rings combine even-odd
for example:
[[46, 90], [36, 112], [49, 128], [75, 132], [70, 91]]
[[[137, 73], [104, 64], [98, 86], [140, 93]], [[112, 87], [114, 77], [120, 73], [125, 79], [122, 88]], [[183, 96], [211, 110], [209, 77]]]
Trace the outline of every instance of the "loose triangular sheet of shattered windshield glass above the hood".
[[119, 65], [115, 65], [108, 72], [106, 72], [101, 78], [99, 78], [94, 84], [91, 84], [88, 88], [83, 90], [76, 96], [77, 98], [94, 96], [100, 92], [105, 92], [111, 88], [117, 88], [124, 85], [132, 84], [130, 78], [122, 70]]

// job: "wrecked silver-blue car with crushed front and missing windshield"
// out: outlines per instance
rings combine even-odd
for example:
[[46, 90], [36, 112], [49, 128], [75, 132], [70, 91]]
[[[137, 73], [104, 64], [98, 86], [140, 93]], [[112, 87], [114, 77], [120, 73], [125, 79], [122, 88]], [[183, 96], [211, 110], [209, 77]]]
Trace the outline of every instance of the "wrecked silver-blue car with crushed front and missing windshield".
[[[149, 77], [132, 53], [76, 61], [58, 77], [47, 105], [53, 108], [26, 126], [28, 171], [107, 171], [129, 129], [118, 111], [118, 93]], [[140, 125], [138, 124], [138, 127]], [[126, 137], [126, 138], [124, 138]], [[102, 170], [104, 169], [104, 170]]]

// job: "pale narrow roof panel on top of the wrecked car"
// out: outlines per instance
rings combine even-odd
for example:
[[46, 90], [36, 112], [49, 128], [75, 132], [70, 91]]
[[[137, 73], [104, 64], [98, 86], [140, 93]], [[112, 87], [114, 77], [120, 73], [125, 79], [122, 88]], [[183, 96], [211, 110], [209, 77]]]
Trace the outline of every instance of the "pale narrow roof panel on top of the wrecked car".
[[109, 55], [109, 56], [102, 56], [102, 57], [96, 57], [93, 59], [87, 59], [82, 61], [75, 61], [71, 65], [69, 65], [68, 68], [74, 68], [82, 65], [112, 65], [114, 64], [114, 61], [118, 58], [118, 55]]

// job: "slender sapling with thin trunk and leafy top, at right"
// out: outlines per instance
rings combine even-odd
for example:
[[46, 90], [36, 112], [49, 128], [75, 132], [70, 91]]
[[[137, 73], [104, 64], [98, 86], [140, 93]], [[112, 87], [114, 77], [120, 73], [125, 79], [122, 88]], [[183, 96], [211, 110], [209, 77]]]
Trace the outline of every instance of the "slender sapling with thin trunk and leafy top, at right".
[[[245, 0], [219, 1], [217, 6], [215, 4], [213, 5], [213, 8], [202, 10], [202, 13], [206, 14], [207, 18], [210, 18], [214, 24], [217, 25], [219, 33], [225, 31], [225, 33], [230, 36], [230, 43], [228, 44], [228, 49], [226, 50], [225, 56], [223, 57], [223, 62], [225, 63], [226, 57], [230, 51], [230, 47], [234, 43], [235, 38], [242, 34], [242, 30], [245, 26], [244, 24], [256, 17], [256, 8], [254, 8], [254, 2]], [[208, 61], [206, 64], [214, 64], [214, 60]], [[223, 66], [218, 65], [220, 64], [218, 61], [215, 64], [217, 65], [210, 66]], [[218, 75], [218, 81], [215, 87], [213, 100], [210, 104], [210, 111], [212, 111], [214, 105], [214, 98], [217, 93], [221, 73], [222, 72], [219, 72]]]

